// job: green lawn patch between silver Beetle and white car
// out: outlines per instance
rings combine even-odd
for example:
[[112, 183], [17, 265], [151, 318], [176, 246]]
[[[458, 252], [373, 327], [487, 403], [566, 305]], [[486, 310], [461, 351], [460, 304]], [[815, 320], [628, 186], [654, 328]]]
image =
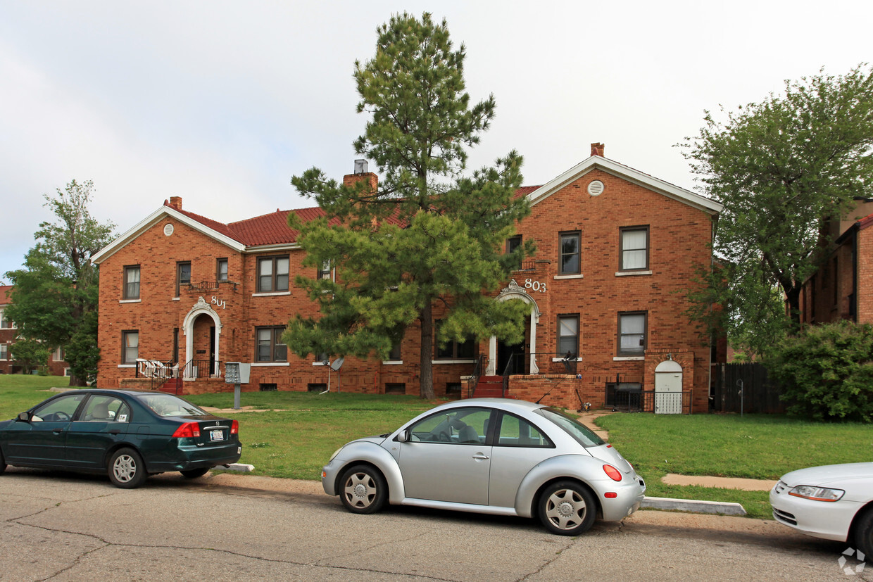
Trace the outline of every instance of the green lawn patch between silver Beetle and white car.
[[742, 503], [771, 517], [767, 491], [665, 485], [667, 473], [778, 479], [788, 471], [871, 460], [873, 428], [773, 414], [608, 414], [597, 424], [646, 480], [646, 495]]

